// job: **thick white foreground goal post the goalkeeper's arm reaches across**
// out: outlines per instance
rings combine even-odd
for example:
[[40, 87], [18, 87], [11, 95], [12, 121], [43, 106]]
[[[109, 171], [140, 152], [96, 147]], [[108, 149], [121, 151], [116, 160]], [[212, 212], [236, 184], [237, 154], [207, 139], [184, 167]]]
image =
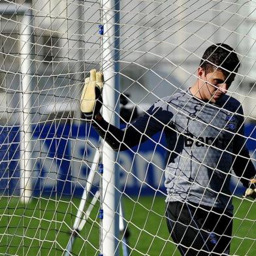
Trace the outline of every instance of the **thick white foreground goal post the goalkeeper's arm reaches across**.
[[[119, 127], [119, 91], [120, 91], [120, 59], [119, 1], [102, 1], [102, 69], [107, 85], [103, 90], [103, 118], [112, 125]], [[115, 164], [118, 154], [103, 141], [103, 180], [102, 180], [102, 255], [119, 255], [118, 244], [120, 228], [120, 172]]]

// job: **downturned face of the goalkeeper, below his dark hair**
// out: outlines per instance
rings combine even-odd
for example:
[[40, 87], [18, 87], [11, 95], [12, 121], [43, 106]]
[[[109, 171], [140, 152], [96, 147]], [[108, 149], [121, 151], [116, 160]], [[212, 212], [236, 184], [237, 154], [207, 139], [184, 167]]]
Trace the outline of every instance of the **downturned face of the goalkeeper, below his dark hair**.
[[204, 69], [199, 68], [199, 91], [201, 99], [216, 103], [231, 86], [235, 74], [216, 69], [206, 73]]

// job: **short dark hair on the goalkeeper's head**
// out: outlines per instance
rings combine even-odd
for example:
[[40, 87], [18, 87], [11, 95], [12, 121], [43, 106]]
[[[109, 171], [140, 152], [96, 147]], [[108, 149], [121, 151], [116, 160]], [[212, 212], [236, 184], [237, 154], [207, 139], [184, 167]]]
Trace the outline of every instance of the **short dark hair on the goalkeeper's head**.
[[206, 74], [213, 72], [216, 68], [223, 72], [237, 72], [240, 61], [234, 49], [223, 43], [213, 44], [206, 49], [200, 61], [200, 67]]

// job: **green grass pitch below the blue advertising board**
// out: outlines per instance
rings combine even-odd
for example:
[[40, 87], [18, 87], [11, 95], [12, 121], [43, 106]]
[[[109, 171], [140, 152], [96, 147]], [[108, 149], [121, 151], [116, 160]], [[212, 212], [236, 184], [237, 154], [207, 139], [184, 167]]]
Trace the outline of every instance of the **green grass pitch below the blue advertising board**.
[[[0, 255], [63, 255], [70, 237], [79, 200], [33, 199], [24, 206], [18, 199], [0, 200]], [[163, 197], [125, 198], [125, 217], [131, 237], [131, 255], [180, 255], [168, 240], [163, 217]], [[256, 206], [234, 200], [232, 255], [256, 255]], [[98, 207], [95, 206], [80, 236], [74, 242], [72, 255], [99, 255]], [[241, 221], [241, 219], [244, 219]], [[121, 247], [121, 246], [120, 246]], [[121, 253], [120, 253], [121, 254]]]

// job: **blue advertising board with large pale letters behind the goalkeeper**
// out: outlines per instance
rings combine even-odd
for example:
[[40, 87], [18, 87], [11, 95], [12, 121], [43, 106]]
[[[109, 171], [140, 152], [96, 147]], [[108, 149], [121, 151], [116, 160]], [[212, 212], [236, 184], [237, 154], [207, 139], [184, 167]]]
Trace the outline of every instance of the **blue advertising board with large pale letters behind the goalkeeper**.
[[[19, 127], [0, 127], [0, 193], [19, 194], [20, 136]], [[255, 159], [255, 125], [246, 125], [247, 146]], [[31, 136], [33, 152], [31, 183], [33, 195], [76, 195], [80, 197], [86, 186], [99, 136], [86, 123], [39, 123]], [[159, 135], [153, 137], [159, 141]], [[118, 153], [121, 191], [128, 195], [165, 194], [165, 138], [160, 143], [148, 140], [140, 146]], [[237, 180], [231, 180], [231, 188]], [[92, 190], [99, 188], [99, 174], [95, 175]], [[236, 194], [244, 189], [239, 185]]]

